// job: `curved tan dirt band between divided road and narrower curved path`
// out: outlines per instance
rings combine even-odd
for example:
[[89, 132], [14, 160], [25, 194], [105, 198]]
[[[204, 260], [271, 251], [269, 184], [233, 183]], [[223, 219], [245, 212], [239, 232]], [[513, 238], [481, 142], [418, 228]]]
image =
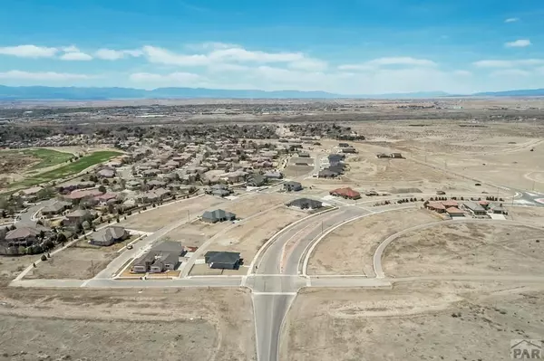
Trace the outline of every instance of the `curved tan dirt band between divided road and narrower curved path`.
[[373, 255], [380, 242], [416, 224], [439, 222], [436, 214], [405, 209], [365, 216], [329, 233], [311, 254], [308, 274], [374, 276]]

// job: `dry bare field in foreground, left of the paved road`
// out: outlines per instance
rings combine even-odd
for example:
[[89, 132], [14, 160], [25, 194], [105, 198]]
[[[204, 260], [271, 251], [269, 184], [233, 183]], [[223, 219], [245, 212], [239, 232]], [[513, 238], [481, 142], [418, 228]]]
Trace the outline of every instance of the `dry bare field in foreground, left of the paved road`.
[[0, 360], [251, 360], [252, 317], [239, 289], [3, 289]]

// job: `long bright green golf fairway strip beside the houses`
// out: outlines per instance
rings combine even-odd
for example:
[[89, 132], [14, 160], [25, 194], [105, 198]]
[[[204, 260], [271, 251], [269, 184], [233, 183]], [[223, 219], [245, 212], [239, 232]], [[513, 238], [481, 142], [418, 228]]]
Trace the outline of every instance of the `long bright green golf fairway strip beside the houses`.
[[73, 163], [69, 163], [66, 166], [61, 166], [35, 176], [29, 176], [22, 181], [12, 183], [10, 185], [10, 188], [24, 188], [27, 186], [38, 185], [40, 183], [53, 181], [67, 176], [73, 176], [80, 173], [81, 171], [83, 171], [83, 169], [86, 169], [89, 166], [103, 163], [107, 160], [110, 160], [112, 157], [117, 157], [120, 155], [121, 153], [112, 151], [94, 152], [91, 155], [81, 157], [80, 159], [74, 161]]

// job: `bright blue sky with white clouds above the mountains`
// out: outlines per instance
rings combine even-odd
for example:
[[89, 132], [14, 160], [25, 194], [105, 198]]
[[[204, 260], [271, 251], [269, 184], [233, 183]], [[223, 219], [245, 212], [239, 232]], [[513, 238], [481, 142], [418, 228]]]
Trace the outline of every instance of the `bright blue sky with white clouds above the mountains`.
[[544, 88], [541, 0], [17, 0], [0, 33], [11, 86]]

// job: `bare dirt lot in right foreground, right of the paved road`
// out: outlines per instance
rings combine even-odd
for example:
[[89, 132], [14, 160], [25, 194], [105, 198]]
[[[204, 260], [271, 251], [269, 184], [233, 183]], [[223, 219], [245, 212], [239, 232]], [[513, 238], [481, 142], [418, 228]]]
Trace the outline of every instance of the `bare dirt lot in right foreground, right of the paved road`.
[[542, 286], [403, 283], [298, 294], [282, 360], [510, 360], [510, 339], [544, 334]]

